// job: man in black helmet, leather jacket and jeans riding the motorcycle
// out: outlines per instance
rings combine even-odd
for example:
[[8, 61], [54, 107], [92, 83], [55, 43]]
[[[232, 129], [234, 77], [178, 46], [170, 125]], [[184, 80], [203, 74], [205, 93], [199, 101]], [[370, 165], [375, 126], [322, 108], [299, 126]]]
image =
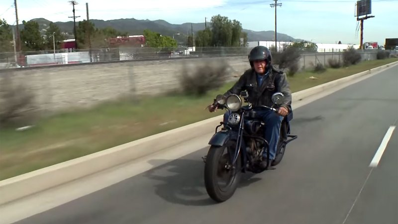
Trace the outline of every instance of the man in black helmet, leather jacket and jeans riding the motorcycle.
[[[272, 95], [281, 92], [285, 95], [283, 103], [280, 105], [278, 113], [272, 112], [265, 108], [256, 109], [257, 114], [266, 123], [265, 139], [270, 146], [270, 160], [275, 159], [281, 123], [284, 116], [292, 111], [292, 91], [286, 74], [272, 65], [271, 52], [267, 47], [254, 47], [249, 53], [249, 63], [251, 68], [246, 70], [235, 85], [229, 89], [225, 96], [230, 94], [239, 95], [241, 91], [246, 90], [249, 95], [249, 102], [253, 107], [264, 105], [272, 107]], [[209, 107], [209, 112], [214, 112], [214, 106]], [[224, 122], [228, 121], [229, 112], [224, 114]], [[263, 151], [262, 166], [267, 164], [267, 153]]]

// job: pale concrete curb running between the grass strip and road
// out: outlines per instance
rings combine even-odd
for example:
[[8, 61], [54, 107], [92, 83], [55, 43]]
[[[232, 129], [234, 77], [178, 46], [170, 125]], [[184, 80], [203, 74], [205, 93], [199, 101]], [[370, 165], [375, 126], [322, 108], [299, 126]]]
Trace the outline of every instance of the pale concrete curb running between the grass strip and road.
[[[387, 68], [398, 62], [293, 93], [297, 102], [338, 84]], [[102, 150], [20, 176], [0, 181], [0, 205], [65, 184], [102, 170], [139, 159], [215, 130], [222, 115]]]

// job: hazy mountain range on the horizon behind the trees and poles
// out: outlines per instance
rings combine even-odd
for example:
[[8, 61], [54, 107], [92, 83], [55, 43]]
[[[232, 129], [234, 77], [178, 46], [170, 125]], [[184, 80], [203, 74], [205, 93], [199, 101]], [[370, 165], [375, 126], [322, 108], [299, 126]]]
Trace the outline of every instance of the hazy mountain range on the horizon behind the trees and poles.
[[[44, 33], [47, 27], [50, 24], [50, 21], [45, 18], [35, 18], [32, 19], [39, 24], [39, 29], [41, 33]], [[128, 32], [129, 35], [142, 35], [144, 29], [150, 29], [152, 31], [158, 32], [162, 35], [173, 36], [179, 42], [185, 42], [187, 35], [191, 35], [191, 24], [192, 24], [192, 32], [195, 33], [199, 30], [203, 30], [205, 25], [209, 27], [211, 25], [210, 22], [205, 24], [202, 23], [190, 23], [186, 22], [183, 24], [171, 24], [165, 20], [148, 20], [148, 19], [134, 19], [134, 18], [125, 18], [125, 19], [112, 19], [112, 20], [100, 20], [100, 19], [90, 19], [91, 22], [97, 28], [105, 28], [112, 27], [120, 32]], [[60, 29], [61, 32], [67, 33], [67, 38], [73, 37], [73, 21], [68, 22], [54, 22]], [[78, 25], [78, 21], [76, 21], [76, 25]], [[19, 24], [20, 28], [23, 28], [22, 24]], [[247, 32], [248, 41], [272, 41], [274, 39], [275, 31], [253, 31], [249, 29], [243, 29], [244, 32]], [[177, 34], [180, 33], [180, 34]], [[293, 38], [284, 33], [278, 33], [279, 41], [302, 41], [302, 39]]]

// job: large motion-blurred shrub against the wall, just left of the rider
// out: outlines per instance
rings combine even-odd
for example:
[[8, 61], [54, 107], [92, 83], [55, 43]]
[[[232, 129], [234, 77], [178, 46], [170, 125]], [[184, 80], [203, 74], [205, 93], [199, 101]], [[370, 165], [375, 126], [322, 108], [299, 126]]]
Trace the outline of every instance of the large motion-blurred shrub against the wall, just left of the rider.
[[184, 64], [180, 76], [183, 92], [201, 96], [222, 86], [228, 78], [228, 68], [226, 61], [203, 60], [191, 66]]

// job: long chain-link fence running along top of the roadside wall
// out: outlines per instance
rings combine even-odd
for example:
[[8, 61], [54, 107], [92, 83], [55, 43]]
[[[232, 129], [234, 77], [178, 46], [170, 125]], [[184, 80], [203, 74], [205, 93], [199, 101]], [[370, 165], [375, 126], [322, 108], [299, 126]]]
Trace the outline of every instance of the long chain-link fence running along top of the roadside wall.
[[[100, 49], [30, 51], [20, 52], [17, 57], [14, 52], [0, 53], [0, 69], [15, 67], [37, 67], [77, 63], [118, 62], [128, 60], [162, 60], [181, 59], [192, 57], [231, 57], [245, 56], [252, 47], [177, 47], [177, 48], [150, 48], [150, 47], [119, 47]], [[377, 50], [359, 50], [361, 54], [377, 52]], [[303, 53], [302, 60], [305, 66], [305, 57], [312, 55], [321, 61], [322, 57], [340, 55], [343, 50], [318, 49], [318, 52]], [[397, 52], [391, 51], [392, 54]], [[17, 63], [15, 63], [17, 61]], [[326, 58], [323, 63], [326, 62]]]

